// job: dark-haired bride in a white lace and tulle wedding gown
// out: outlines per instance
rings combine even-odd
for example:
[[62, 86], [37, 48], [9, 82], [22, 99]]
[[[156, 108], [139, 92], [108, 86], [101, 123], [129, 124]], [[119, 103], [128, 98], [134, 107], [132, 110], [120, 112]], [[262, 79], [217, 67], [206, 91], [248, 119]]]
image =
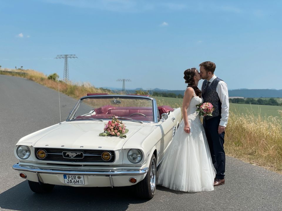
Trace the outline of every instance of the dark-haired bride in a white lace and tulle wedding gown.
[[196, 112], [203, 102], [197, 85], [201, 76], [196, 68], [184, 71], [185, 83], [181, 121], [167, 148], [159, 169], [158, 184], [172, 190], [198, 192], [214, 190], [215, 169], [201, 123]]

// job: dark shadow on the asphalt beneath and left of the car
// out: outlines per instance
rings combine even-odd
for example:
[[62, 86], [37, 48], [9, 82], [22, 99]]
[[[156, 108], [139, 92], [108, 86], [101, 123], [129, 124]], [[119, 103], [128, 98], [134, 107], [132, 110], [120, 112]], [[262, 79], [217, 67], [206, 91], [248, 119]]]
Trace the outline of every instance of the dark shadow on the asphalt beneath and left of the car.
[[144, 203], [130, 187], [75, 188], [55, 186], [48, 194], [33, 193], [24, 181], [0, 194], [0, 208], [10, 210], [127, 210]]

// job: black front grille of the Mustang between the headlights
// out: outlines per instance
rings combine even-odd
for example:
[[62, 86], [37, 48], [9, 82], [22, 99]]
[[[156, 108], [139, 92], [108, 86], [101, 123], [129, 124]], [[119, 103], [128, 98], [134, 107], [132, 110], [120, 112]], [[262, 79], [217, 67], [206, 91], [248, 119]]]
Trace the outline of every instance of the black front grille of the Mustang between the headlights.
[[[39, 149], [45, 150], [47, 153], [46, 158], [40, 159], [37, 156], [37, 151]], [[71, 153], [83, 153], [83, 158], [75, 159], [67, 158], [67, 156], [63, 156], [63, 152], [71, 152]], [[109, 161], [104, 161], [101, 157], [103, 152], [110, 152], [112, 154], [112, 158]], [[98, 162], [98, 163], [112, 163], [115, 161], [115, 152], [113, 150], [93, 150], [93, 149], [57, 149], [57, 148], [35, 148], [34, 150], [35, 157], [37, 160], [43, 161], [63, 161], [63, 162]]]

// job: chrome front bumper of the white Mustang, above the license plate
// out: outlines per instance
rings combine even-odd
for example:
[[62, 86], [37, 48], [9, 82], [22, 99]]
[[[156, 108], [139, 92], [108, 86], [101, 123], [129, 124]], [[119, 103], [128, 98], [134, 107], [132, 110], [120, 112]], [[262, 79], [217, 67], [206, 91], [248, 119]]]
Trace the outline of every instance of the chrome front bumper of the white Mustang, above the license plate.
[[70, 170], [70, 169], [43, 169], [38, 166], [24, 165], [24, 164], [14, 164], [13, 169], [18, 171], [31, 171], [35, 173], [56, 173], [56, 174], [75, 174], [75, 175], [105, 175], [105, 176], [118, 176], [118, 175], [143, 175], [148, 172], [149, 168], [144, 169], [99, 169], [99, 171], [93, 171], [93, 169], [83, 169], [83, 170]]

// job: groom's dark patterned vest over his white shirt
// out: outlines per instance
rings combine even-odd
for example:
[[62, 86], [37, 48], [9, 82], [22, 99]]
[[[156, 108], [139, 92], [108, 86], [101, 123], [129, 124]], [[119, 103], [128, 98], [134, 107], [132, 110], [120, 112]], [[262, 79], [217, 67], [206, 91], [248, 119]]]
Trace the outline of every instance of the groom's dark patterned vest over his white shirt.
[[203, 82], [202, 97], [204, 99], [204, 103], [212, 103], [212, 105], [214, 106], [214, 111], [212, 112], [212, 116], [205, 116], [204, 117], [205, 119], [211, 119], [213, 117], [217, 117], [221, 115], [221, 102], [216, 92], [216, 86], [219, 83], [219, 81], [222, 81], [222, 80], [216, 77], [212, 81], [212, 83], [209, 85], [209, 87], [206, 87], [207, 80], [204, 80]]

